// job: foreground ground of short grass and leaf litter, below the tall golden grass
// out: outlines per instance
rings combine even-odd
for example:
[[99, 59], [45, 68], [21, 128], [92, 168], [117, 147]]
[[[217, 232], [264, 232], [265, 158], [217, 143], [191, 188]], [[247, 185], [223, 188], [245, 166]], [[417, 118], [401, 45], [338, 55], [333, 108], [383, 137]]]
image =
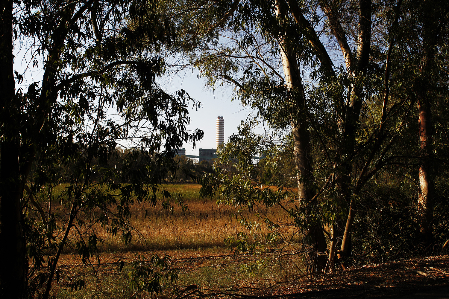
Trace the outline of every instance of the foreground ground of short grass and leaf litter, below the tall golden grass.
[[[240, 270], [238, 272], [238, 269], [242, 269], [242, 267], [235, 267], [235, 265], [250, 265], [251, 261], [260, 260], [260, 256], [236, 256], [233, 252], [223, 249], [163, 251], [160, 253], [172, 257], [172, 263], [179, 269], [180, 281], [183, 284], [178, 286], [179, 295], [165, 293], [159, 295], [159, 298], [443, 299], [448, 298], [446, 295], [449, 293], [449, 256], [421, 257], [352, 267], [334, 275], [297, 273], [294, 277], [283, 277], [282, 281], [279, 281], [279, 277], [282, 275], [277, 275], [276, 271], [282, 271], [282, 268], [271, 268], [271, 273], [268, 271], [263, 274], [265, 276], [259, 273], [259, 276], [254, 275], [251, 278], [251, 274], [249, 274], [247, 279], [242, 278], [242, 272]], [[124, 260], [125, 264], [128, 264], [136, 254], [150, 255], [150, 253], [144, 252], [103, 253], [100, 256], [100, 264], [97, 264], [97, 260], [95, 263], [97, 275], [101, 277], [103, 273], [106, 277], [111, 273], [118, 273], [119, 261]], [[230, 264], [234, 265], [233, 268]], [[80, 268], [89, 267], [92, 266], [82, 265], [79, 256], [65, 255], [59, 269], [70, 276], [70, 273], [82, 273]], [[182, 275], [184, 278], [181, 277]], [[108, 281], [108, 279], [103, 281]], [[198, 285], [199, 288], [194, 288], [194, 285]], [[182, 292], [188, 286], [191, 290]], [[77, 296], [75, 292], [71, 292], [71, 294], [62, 297], [87, 298], [81, 294]], [[418, 295], [412, 296], [412, 294]], [[426, 294], [434, 295], [426, 297]], [[124, 293], [122, 295], [125, 297]], [[145, 295], [140, 296], [147, 298]]]

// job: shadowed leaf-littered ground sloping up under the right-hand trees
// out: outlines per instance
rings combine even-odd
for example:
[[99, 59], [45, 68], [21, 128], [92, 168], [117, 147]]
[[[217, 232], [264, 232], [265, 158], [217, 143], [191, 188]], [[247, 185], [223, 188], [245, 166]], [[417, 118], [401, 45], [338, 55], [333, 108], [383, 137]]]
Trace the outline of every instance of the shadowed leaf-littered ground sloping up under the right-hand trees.
[[[430, 274], [435, 279], [414, 270]], [[449, 257], [434, 256], [348, 269], [335, 276], [287, 283], [272, 293], [295, 298], [397, 298], [432, 293], [447, 286]]]

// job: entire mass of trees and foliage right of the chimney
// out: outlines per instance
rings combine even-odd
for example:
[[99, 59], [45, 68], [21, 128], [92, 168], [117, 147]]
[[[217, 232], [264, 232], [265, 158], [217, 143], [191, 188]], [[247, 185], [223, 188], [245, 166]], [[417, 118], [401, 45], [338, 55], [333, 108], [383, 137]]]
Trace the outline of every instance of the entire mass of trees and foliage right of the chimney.
[[[203, 190], [250, 209], [294, 204], [312, 271], [443, 250], [447, 3], [239, 1], [223, 27], [196, 66], [255, 117], [221, 152], [237, 174], [208, 176]], [[267, 134], [252, 132], [260, 122]]]

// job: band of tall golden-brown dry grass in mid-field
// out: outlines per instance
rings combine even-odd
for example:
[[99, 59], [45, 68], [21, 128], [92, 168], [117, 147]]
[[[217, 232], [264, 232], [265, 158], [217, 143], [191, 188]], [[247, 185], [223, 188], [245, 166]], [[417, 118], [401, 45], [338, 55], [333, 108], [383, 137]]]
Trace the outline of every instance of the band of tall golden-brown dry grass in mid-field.
[[[229, 205], [217, 205], [214, 199], [199, 198], [200, 185], [179, 184], [165, 186], [168, 191], [182, 194], [184, 205], [182, 210], [175, 206], [172, 212], [156, 206], [135, 204], [132, 209], [130, 225], [134, 228], [133, 240], [124, 246], [120, 235], [111, 237], [105, 229], [96, 226], [96, 234], [105, 240], [102, 250], [166, 250], [176, 248], [223, 247], [224, 239], [236, 236], [239, 232], [247, 234], [267, 233], [264, 218], [280, 223], [288, 223], [290, 219], [280, 208], [261, 208], [253, 211]], [[146, 211], [145, 211], [146, 210]], [[146, 217], [145, 217], [146, 213]], [[240, 219], [260, 223], [260, 230], [249, 230], [242, 225]], [[294, 230], [288, 226], [281, 233], [291, 234]]]

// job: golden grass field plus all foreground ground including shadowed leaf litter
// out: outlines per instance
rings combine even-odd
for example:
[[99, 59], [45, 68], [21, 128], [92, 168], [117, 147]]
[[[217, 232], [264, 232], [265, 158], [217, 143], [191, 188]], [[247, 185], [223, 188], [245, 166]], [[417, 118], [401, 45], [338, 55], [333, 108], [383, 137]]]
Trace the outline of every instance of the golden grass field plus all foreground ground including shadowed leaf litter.
[[[101, 226], [91, 227], [90, 230], [104, 238], [101, 251], [88, 264], [83, 264], [79, 255], [66, 252], [58, 266], [61, 279], [54, 284], [53, 298], [391, 298], [420, 287], [447, 285], [448, 278], [434, 282], [413, 272], [413, 269], [436, 268], [449, 271], [447, 256], [351, 268], [329, 276], [307, 274], [295, 242], [288, 246], [274, 244], [267, 246], [266, 251], [253, 254], [235, 254], [235, 248], [224, 247], [224, 238], [236, 237], [241, 231], [267, 232], [263, 225], [261, 230], [250, 231], [239, 221], [241, 217], [260, 224], [264, 217], [269, 217], [283, 224], [279, 234], [295, 235], [286, 213], [279, 208], [256, 206], [248, 212], [238, 207], [218, 206], [213, 199], [200, 199], [200, 186], [195, 184], [173, 184], [165, 188], [182, 194], [189, 209], [182, 211], [175, 207], [171, 213], [160, 205], [133, 206], [131, 225], [135, 228], [134, 235], [140, 237], [133, 238], [129, 245], [124, 245], [119, 235], [111, 237]], [[293, 241], [299, 241], [299, 236]], [[270, 250], [273, 247], [278, 250]], [[131, 290], [128, 273], [132, 262], [139, 255], [150, 257], [155, 252], [170, 256], [170, 265], [179, 273], [178, 280], [158, 295]], [[72, 290], [68, 282], [79, 279], [86, 285]], [[182, 293], [192, 285], [198, 289]]]

